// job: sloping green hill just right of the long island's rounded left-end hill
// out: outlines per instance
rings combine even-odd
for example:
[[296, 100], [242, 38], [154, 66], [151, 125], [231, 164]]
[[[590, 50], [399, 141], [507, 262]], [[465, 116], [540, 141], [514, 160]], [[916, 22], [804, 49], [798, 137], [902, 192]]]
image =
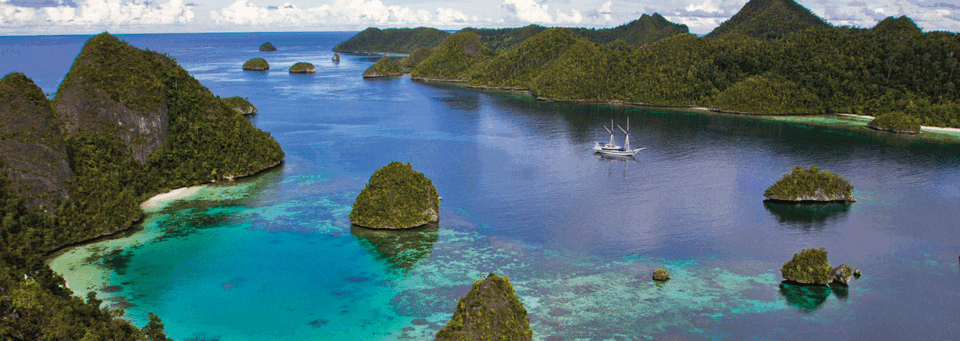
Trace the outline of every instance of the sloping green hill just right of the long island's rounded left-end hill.
[[580, 38], [569, 30], [553, 28], [525, 40], [470, 76], [471, 85], [530, 88], [534, 77]]

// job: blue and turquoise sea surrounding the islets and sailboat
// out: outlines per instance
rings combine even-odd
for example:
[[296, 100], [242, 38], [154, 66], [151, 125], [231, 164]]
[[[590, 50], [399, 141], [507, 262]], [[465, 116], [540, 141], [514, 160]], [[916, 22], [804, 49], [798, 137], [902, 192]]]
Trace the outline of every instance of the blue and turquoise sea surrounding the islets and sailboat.
[[[157, 313], [175, 339], [426, 339], [491, 271], [510, 277], [538, 340], [960, 333], [957, 145], [364, 80], [376, 58], [330, 61], [353, 34], [121, 36], [248, 98], [287, 159], [148, 210], [140, 233], [54, 268], [138, 325]], [[0, 37], [0, 72], [54, 93], [87, 38]], [[258, 52], [264, 41], [279, 51]], [[253, 57], [271, 70], [241, 71]], [[299, 61], [317, 74], [288, 74]], [[602, 126], [627, 117], [647, 149], [635, 162], [594, 156]], [[439, 227], [351, 228], [354, 198], [391, 161], [433, 180]], [[811, 164], [846, 176], [858, 201], [764, 204], [766, 187]], [[846, 290], [782, 285], [780, 266], [807, 247], [864, 276]], [[654, 284], [657, 266], [673, 279]]]

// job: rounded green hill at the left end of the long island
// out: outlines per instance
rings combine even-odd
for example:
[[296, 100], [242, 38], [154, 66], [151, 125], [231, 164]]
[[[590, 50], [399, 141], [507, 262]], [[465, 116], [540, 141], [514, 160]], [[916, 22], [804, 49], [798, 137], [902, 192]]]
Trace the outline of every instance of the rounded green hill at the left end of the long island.
[[411, 76], [419, 79], [466, 81], [477, 64], [493, 57], [480, 44], [480, 36], [460, 31], [443, 40], [433, 54], [413, 69]]

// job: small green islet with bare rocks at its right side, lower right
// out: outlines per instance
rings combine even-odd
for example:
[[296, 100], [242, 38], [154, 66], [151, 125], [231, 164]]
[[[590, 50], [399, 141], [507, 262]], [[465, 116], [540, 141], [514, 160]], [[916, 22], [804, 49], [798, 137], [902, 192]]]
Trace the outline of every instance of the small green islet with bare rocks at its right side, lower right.
[[837, 267], [830, 267], [827, 261], [827, 251], [819, 249], [803, 249], [794, 253], [793, 259], [783, 263], [780, 274], [787, 281], [806, 285], [841, 284], [849, 285], [850, 277], [859, 277], [860, 269], [854, 271], [846, 263]]

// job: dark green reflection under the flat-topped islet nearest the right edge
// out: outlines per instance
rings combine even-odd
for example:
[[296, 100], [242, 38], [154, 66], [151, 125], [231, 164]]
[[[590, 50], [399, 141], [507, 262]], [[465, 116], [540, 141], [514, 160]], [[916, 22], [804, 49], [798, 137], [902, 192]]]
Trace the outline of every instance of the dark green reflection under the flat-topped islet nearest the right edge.
[[764, 201], [763, 207], [780, 225], [803, 230], [820, 230], [828, 222], [846, 219], [849, 203], [782, 203]]

